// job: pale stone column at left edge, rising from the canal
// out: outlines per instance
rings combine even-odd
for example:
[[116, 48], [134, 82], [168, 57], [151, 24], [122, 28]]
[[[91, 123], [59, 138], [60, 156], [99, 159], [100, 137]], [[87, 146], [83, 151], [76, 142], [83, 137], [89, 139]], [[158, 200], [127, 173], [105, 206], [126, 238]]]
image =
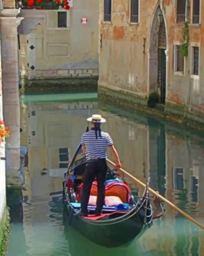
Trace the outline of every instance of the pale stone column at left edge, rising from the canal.
[[17, 27], [23, 18], [16, 18], [19, 10], [3, 10], [0, 17], [2, 94], [5, 124], [10, 128], [6, 145], [6, 183], [22, 186], [20, 179], [20, 111]]

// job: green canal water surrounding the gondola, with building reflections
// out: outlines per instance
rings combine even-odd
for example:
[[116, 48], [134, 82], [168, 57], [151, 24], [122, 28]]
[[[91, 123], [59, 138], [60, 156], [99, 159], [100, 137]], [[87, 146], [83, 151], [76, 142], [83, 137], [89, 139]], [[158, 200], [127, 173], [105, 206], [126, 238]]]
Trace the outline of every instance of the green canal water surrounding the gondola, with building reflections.
[[[163, 204], [165, 215], [137, 241], [103, 248], [63, 222], [63, 175], [86, 129], [100, 113], [122, 166], [204, 224], [204, 138], [139, 113], [98, 103], [97, 95], [20, 97], [25, 188], [11, 193], [11, 236], [7, 256], [202, 256], [204, 232]], [[111, 157], [110, 157], [111, 159]], [[126, 177], [134, 193], [142, 189]], [[97, 236], [97, 234], [96, 234]]]

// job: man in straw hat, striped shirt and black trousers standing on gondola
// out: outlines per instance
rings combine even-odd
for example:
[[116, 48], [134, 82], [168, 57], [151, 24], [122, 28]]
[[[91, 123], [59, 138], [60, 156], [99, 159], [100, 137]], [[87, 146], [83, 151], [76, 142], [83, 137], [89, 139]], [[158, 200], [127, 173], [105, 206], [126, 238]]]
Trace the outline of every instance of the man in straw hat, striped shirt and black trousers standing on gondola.
[[77, 214], [80, 216], [88, 215], [88, 201], [90, 197], [90, 189], [95, 177], [98, 185], [98, 197], [96, 202], [96, 216], [100, 216], [105, 199], [105, 182], [107, 174], [106, 151], [110, 149], [115, 161], [115, 168], [121, 167], [118, 153], [114, 147], [112, 138], [108, 133], [101, 130], [100, 124], [106, 120], [101, 115], [92, 115], [87, 121], [91, 123], [91, 130], [83, 133], [81, 139], [82, 150], [86, 153], [86, 170], [83, 176], [83, 190], [81, 199], [81, 211]]

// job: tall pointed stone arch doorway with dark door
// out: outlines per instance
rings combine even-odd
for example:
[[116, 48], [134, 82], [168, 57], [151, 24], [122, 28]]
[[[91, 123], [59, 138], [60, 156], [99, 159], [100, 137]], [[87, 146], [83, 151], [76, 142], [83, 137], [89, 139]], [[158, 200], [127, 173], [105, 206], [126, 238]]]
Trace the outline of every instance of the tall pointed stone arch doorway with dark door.
[[162, 9], [155, 9], [149, 35], [148, 82], [149, 94], [157, 92], [160, 103], [166, 102], [168, 74], [168, 38]]

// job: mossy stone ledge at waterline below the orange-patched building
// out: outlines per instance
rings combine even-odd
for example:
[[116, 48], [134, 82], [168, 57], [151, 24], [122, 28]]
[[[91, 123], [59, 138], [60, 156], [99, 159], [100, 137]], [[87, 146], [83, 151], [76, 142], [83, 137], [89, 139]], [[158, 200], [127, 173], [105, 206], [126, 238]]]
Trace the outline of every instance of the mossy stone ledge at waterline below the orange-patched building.
[[[160, 108], [150, 108], [147, 104], [147, 99], [142, 101], [136, 95], [127, 95], [118, 90], [113, 90], [113, 87], [103, 87], [99, 83], [98, 99], [103, 104], [106, 103], [112, 107], [118, 107], [123, 111], [138, 111], [159, 119], [171, 121], [178, 125], [188, 126], [198, 131], [204, 132], [204, 113], [200, 113], [198, 109], [189, 111], [185, 105], [176, 105], [167, 102], [164, 111]], [[203, 116], [203, 117], [201, 117]]]

